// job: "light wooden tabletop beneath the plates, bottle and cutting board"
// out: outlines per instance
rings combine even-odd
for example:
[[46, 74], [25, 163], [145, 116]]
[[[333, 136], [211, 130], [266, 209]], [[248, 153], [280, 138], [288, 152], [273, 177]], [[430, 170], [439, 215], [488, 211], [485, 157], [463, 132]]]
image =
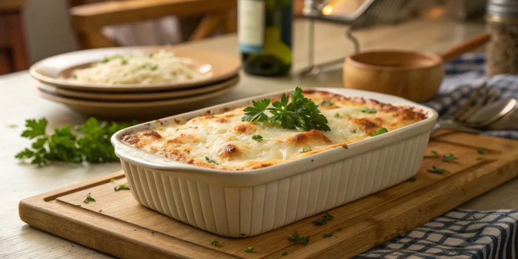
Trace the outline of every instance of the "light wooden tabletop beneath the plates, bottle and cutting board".
[[[307, 65], [307, 22], [294, 26], [294, 70]], [[485, 31], [483, 23], [447, 20], [416, 20], [391, 26], [370, 28], [357, 35], [363, 50], [376, 48], [410, 49], [440, 52], [449, 46]], [[315, 26], [316, 61], [334, 60], [352, 53], [352, 44], [344, 37], [345, 27], [317, 23]], [[236, 35], [212, 38], [185, 45], [238, 55]], [[56, 237], [26, 225], [18, 217], [21, 199], [79, 183], [120, 170], [119, 163], [81, 166], [54, 163], [37, 168], [20, 164], [14, 155], [30, 145], [20, 137], [24, 120], [45, 117], [49, 127], [80, 124], [85, 117], [67, 107], [38, 98], [33, 93], [36, 81], [26, 71], [0, 77], [0, 258], [104, 258], [77, 243]], [[302, 87], [342, 87], [341, 70], [335, 69], [319, 78], [264, 78], [241, 74], [232, 93], [210, 100], [207, 106], [283, 89]], [[6, 125], [17, 124], [17, 128]], [[518, 209], [518, 179], [464, 204], [475, 210]]]

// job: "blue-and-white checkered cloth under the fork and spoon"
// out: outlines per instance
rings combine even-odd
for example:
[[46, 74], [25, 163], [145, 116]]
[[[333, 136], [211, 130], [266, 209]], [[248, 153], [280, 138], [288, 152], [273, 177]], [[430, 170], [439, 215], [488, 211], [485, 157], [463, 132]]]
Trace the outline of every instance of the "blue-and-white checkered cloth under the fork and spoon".
[[[466, 54], [444, 65], [445, 77], [438, 96], [424, 105], [442, 118], [452, 116], [484, 81], [500, 91], [497, 99], [518, 98], [518, 75], [485, 77], [485, 54]], [[518, 139], [518, 131], [486, 131], [488, 136]]]

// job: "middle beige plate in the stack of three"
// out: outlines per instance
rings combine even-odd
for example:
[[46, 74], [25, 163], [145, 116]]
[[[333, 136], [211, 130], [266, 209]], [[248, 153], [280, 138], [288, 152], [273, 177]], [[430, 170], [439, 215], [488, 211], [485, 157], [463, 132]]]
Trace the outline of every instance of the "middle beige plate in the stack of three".
[[39, 84], [37, 88], [42, 92], [62, 96], [65, 98], [87, 99], [87, 100], [114, 100], [114, 101], [139, 101], [139, 100], [163, 100], [180, 98], [198, 94], [210, 93], [216, 90], [232, 87], [239, 82], [239, 76], [215, 84], [203, 87], [179, 89], [175, 91], [147, 92], [147, 93], [99, 93], [83, 92], [54, 87], [48, 84]]

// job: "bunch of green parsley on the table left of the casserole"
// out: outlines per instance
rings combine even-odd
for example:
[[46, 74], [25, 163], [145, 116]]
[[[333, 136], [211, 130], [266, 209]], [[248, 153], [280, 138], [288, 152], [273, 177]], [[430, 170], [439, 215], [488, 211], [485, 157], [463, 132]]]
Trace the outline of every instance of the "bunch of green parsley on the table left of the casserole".
[[97, 121], [90, 118], [83, 125], [75, 127], [70, 125], [56, 128], [51, 135], [46, 134], [48, 121], [45, 118], [39, 120], [26, 120], [27, 128], [22, 137], [34, 139], [31, 148], [25, 148], [15, 157], [23, 161], [30, 161], [33, 165], [46, 165], [51, 161], [67, 163], [106, 163], [117, 161], [113, 151], [110, 137], [123, 128], [137, 124], [119, 124]]

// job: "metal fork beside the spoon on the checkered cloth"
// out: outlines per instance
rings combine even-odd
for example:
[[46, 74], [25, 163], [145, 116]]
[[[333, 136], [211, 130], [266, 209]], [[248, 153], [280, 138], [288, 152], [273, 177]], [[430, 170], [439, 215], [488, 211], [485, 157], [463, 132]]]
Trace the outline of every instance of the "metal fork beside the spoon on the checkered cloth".
[[[482, 83], [480, 87], [477, 88], [466, 100], [464, 105], [455, 112], [454, 116], [450, 119], [438, 120], [437, 124], [431, 130], [431, 134], [442, 130], [442, 129], [452, 129], [457, 131], [464, 131], [469, 133], [480, 134], [482, 131], [478, 130], [477, 123], [473, 123], [470, 121], [473, 114], [475, 114], [480, 108], [484, 105], [488, 105], [494, 102], [494, 100], [500, 94], [500, 91], [492, 91], [493, 87], [491, 85], [487, 85], [486, 82]], [[480, 98], [477, 98], [480, 93], [483, 92]], [[474, 104], [473, 104], [474, 102]]]

